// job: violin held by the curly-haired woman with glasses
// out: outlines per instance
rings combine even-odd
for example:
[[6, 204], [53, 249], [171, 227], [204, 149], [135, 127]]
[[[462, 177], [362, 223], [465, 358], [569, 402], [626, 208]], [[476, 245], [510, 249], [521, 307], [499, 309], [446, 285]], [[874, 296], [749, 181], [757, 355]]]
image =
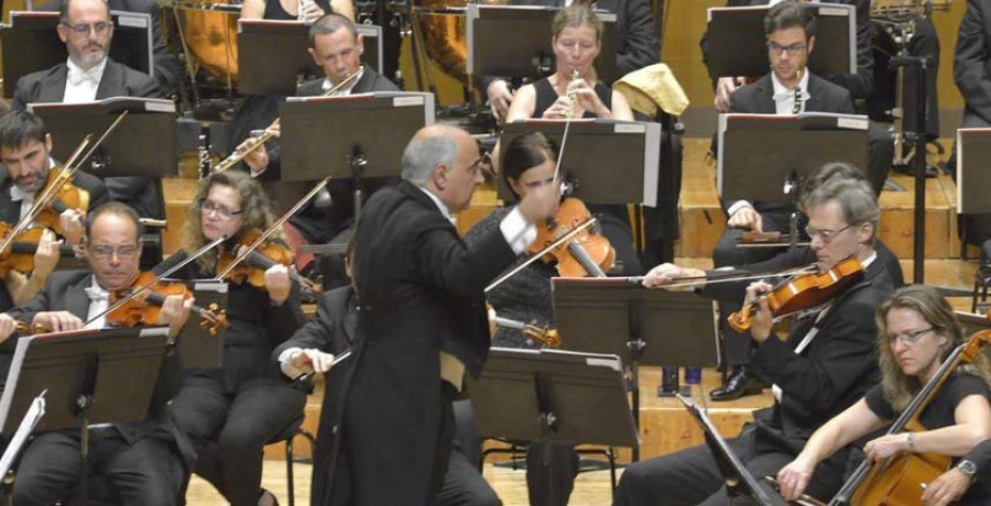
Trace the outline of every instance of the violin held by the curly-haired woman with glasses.
[[[217, 272], [222, 273], [228, 270], [231, 263], [237, 258], [237, 252], [240, 248], [249, 248], [261, 238], [262, 233], [258, 230], [250, 230], [238, 240], [233, 248], [227, 249], [217, 260]], [[265, 271], [269, 267], [282, 264], [285, 266], [293, 265], [293, 252], [285, 244], [275, 241], [263, 241], [252, 250], [243, 262], [235, 265], [224, 278], [233, 284], [248, 283], [249, 285], [265, 289]], [[311, 293], [318, 293], [316, 285], [301, 276], [293, 270], [290, 270], [290, 277], [300, 284], [300, 286]]]

